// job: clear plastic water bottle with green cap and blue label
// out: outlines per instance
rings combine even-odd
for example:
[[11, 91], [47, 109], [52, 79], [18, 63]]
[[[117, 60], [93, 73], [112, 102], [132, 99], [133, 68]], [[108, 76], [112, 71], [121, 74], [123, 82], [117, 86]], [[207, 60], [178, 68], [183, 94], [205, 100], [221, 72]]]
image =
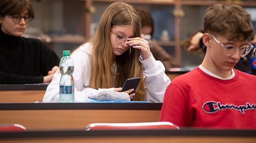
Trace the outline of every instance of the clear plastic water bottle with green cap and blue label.
[[61, 72], [60, 81], [60, 102], [74, 103], [74, 62], [70, 56], [69, 50], [63, 50], [63, 57], [61, 58], [59, 67]]

